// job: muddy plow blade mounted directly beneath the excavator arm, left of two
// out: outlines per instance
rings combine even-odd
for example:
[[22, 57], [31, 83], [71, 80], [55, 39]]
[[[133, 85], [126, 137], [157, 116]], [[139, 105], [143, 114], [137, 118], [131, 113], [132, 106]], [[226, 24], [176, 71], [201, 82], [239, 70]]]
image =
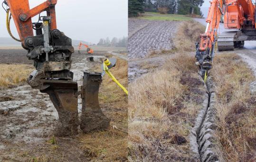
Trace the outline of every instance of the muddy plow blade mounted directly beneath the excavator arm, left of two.
[[78, 111], [77, 111], [77, 82], [75, 81], [43, 81], [45, 90], [57, 109], [59, 122], [56, 135], [76, 135], [78, 127]]

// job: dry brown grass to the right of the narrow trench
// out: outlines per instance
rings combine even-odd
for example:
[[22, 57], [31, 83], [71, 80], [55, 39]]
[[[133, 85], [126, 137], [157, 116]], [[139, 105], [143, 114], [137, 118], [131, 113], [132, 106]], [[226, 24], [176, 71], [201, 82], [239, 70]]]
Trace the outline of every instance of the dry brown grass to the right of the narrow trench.
[[221, 54], [211, 70], [217, 92], [218, 153], [225, 162], [256, 161], [256, 96], [246, 63], [237, 54]]

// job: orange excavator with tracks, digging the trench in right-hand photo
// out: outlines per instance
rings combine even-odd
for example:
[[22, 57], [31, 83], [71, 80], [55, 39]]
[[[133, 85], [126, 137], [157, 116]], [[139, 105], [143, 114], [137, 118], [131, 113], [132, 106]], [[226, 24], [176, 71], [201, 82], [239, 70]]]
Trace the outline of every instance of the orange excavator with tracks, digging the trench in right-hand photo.
[[[256, 7], [252, 0], [212, 0], [206, 19], [206, 30], [196, 43], [196, 64], [199, 73], [207, 77], [212, 68], [214, 53], [243, 47], [245, 41], [256, 40]], [[232, 29], [218, 35], [221, 16], [224, 27]], [[234, 30], [235, 29], [235, 30]]]

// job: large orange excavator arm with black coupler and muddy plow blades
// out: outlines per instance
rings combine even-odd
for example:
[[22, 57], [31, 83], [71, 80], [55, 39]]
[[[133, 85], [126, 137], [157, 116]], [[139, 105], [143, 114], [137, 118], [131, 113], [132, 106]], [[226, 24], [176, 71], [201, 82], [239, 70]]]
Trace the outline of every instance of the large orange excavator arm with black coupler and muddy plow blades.
[[[84, 72], [83, 85], [81, 91], [78, 91], [77, 82], [73, 81], [74, 73], [70, 71], [74, 47], [72, 40], [57, 29], [56, 4], [57, 0], [46, 0], [30, 9], [28, 0], [2, 2], [9, 35], [21, 42], [22, 47], [28, 51], [28, 59], [34, 62], [36, 70], [29, 75], [28, 84], [33, 89], [47, 93], [57, 109], [59, 121], [56, 135], [76, 135], [79, 124], [85, 133], [106, 129], [110, 120], [102, 113], [98, 101], [101, 73]], [[46, 12], [47, 16], [41, 17], [42, 12]], [[38, 21], [32, 23], [32, 18], [37, 15]], [[11, 34], [11, 18], [19, 38]], [[82, 99], [80, 123], [77, 110], [79, 95]]]

